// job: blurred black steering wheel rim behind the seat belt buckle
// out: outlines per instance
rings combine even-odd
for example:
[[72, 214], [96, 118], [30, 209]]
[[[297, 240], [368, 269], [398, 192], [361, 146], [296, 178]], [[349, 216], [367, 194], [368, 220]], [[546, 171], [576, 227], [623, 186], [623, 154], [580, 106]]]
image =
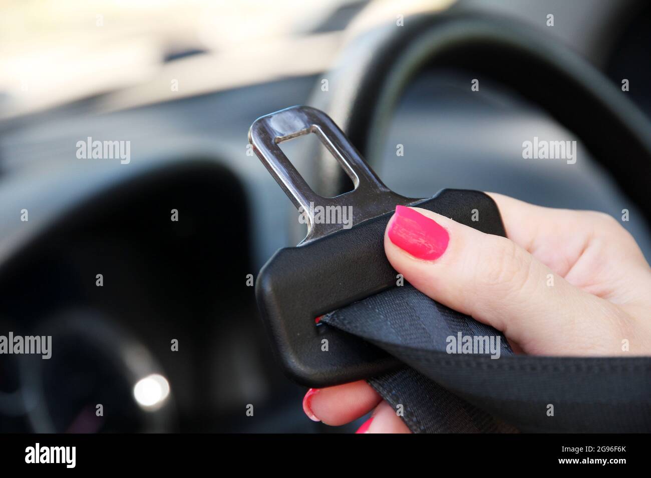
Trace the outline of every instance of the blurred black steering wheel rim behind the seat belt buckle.
[[[409, 83], [432, 67], [471, 69], [536, 103], [581, 140], [651, 223], [651, 124], [605, 75], [567, 47], [512, 21], [472, 14], [417, 14], [355, 38], [327, 73], [325, 111], [371, 166]], [[469, 84], [470, 86], [470, 84]], [[323, 166], [326, 164], [326, 166]], [[344, 173], [318, 161], [320, 189], [342, 193]]]

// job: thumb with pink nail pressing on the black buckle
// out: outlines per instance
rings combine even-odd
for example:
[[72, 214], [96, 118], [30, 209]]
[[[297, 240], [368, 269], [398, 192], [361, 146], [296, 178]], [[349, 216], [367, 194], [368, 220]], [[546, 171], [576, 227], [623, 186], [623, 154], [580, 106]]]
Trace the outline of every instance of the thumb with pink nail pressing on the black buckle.
[[385, 232], [396, 271], [422, 293], [491, 325], [530, 354], [617, 354], [623, 317], [505, 237], [417, 207]]

